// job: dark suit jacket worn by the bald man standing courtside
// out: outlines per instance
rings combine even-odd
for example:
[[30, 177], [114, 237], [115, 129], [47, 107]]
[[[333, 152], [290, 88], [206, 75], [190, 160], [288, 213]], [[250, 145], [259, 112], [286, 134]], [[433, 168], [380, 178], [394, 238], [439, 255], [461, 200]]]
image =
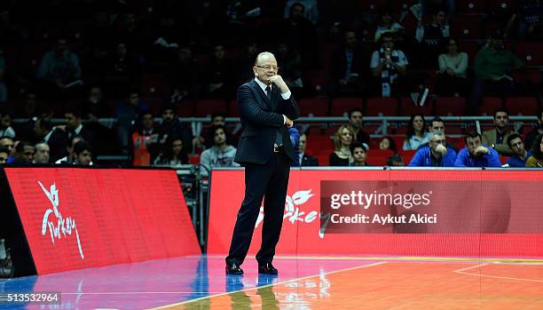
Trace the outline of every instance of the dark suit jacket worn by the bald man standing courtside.
[[283, 99], [279, 88], [271, 85], [271, 99], [264, 93], [255, 80], [244, 83], [238, 89], [238, 105], [243, 127], [240, 143], [234, 161], [241, 165], [245, 163], [264, 164], [273, 154], [273, 144], [277, 130], [281, 132], [284, 141], [285, 154], [295, 161], [295, 151], [287, 126], [284, 125], [283, 115], [295, 120], [300, 115], [300, 108], [294, 97]]

